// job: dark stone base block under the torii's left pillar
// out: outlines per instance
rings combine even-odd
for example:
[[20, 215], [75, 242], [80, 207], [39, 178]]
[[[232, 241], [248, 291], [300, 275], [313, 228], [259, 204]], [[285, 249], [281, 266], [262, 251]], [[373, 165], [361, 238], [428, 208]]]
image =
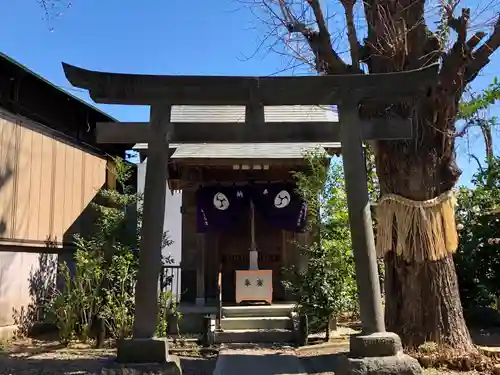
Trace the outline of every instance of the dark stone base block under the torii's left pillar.
[[165, 368], [161, 374], [181, 374], [178, 359], [168, 354], [167, 339], [121, 340], [118, 343], [116, 360], [126, 365], [155, 364], [161, 366], [162, 369]]

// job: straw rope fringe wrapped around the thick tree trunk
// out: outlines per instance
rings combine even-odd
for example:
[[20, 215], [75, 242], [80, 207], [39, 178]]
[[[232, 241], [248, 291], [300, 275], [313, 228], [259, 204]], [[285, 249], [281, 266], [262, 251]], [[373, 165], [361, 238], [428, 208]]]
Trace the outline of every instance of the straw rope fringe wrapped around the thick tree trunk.
[[458, 247], [455, 205], [453, 191], [426, 201], [383, 196], [377, 205], [377, 255], [395, 250], [408, 262], [423, 262], [454, 253]]

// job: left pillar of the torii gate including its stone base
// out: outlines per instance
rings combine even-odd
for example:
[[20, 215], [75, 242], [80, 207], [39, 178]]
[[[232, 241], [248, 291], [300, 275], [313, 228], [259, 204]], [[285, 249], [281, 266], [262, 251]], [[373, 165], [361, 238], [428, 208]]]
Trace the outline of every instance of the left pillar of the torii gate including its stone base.
[[119, 343], [117, 359], [128, 363], [169, 362], [175, 370], [177, 365], [169, 361], [167, 340], [155, 338], [168, 177], [170, 111], [168, 104], [151, 106], [133, 338]]

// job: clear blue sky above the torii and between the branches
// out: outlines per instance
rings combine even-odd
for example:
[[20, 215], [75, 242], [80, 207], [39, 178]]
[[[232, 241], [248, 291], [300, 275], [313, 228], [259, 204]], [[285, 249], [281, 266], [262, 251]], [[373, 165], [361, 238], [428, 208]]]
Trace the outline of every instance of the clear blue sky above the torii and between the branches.
[[[61, 61], [95, 70], [200, 75], [269, 75], [289, 61], [264, 52], [245, 58], [257, 49], [266, 30], [237, 0], [73, 0], [50, 23], [37, 0], [0, 0], [0, 9], [0, 50], [89, 102], [85, 92], [67, 82]], [[498, 55], [474, 89], [500, 76]], [[148, 119], [144, 107], [99, 107], [122, 121]], [[467, 151], [482, 157], [482, 149], [479, 137], [459, 142], [462, 183], [476, 169]]]

